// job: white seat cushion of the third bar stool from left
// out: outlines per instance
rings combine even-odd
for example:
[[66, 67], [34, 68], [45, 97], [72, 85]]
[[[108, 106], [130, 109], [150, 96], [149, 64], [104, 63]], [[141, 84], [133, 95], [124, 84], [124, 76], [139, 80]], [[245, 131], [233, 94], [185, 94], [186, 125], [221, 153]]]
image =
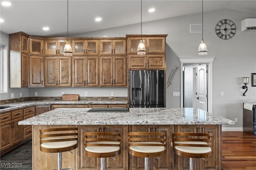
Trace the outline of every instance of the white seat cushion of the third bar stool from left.
[[[160, 142], [130, 142], [130, 143], [148, 143], [148, 144], [162, 144]], [[164, 151], [163, 146], [130, 146], [131, 150], [136, 152], [154, 153]]]

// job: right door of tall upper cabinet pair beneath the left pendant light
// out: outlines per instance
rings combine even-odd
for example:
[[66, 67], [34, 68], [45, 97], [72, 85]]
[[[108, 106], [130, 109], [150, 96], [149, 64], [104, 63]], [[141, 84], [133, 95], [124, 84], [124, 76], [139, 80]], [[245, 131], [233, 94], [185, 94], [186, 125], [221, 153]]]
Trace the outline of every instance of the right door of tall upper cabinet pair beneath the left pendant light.
[[59, 86], [71, 86], [71, 57], [59, 57]]

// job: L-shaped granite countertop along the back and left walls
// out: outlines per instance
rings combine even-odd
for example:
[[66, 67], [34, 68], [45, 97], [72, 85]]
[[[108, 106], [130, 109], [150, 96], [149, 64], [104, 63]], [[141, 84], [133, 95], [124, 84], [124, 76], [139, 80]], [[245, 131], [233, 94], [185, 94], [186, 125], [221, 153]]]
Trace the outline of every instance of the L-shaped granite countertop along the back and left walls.
[[62, 100], [36, 100], [27, 102], [15, 102], [3, 104], [0, 106], [11, 106], [6, 109], [1, 109], [0, 113], [13, 109], [20, 109], [28, 106], [44, 105], [44, 104], [127, 104], [126, 100], [78, 100], [78, 101], [62, 101]]

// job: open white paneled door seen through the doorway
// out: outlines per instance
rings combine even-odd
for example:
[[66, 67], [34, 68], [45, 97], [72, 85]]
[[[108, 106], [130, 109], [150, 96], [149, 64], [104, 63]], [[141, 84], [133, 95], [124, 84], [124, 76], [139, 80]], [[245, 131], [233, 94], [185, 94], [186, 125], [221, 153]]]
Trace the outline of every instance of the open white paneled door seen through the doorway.
[[[208, 111], [207, 108], [207, 65], [200, 64], [197, 67], [197, 76], [196, 76], [196, 107], [205, 111]], [[194, 79], [195, 80], [195, 79]]]

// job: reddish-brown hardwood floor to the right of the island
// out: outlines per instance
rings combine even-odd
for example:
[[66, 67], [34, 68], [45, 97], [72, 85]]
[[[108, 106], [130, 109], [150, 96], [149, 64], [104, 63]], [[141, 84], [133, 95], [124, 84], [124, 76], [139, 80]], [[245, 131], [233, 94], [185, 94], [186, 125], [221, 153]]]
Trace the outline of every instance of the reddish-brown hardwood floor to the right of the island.
[[256, 170], [256, 137], [244, 132], [222, 132], [223, 170]]

